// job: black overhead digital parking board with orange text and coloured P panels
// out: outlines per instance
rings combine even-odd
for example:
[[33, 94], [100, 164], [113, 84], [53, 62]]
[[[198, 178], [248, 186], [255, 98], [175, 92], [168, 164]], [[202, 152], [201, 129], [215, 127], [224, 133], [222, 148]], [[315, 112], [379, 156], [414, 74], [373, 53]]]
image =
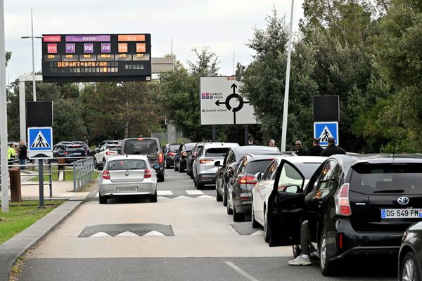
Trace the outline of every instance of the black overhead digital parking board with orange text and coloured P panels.
[[44, 82], [151, 81], [151, 34], [43, 34]]

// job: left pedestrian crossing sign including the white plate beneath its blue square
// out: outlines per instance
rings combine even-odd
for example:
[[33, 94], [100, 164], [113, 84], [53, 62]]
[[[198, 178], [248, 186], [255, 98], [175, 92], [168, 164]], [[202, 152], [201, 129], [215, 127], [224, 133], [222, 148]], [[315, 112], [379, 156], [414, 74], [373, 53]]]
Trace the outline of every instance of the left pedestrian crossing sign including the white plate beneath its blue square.
[[32, 159], [53, 157], [53, 129], [51, 127], [28, 128], [28, 150]]

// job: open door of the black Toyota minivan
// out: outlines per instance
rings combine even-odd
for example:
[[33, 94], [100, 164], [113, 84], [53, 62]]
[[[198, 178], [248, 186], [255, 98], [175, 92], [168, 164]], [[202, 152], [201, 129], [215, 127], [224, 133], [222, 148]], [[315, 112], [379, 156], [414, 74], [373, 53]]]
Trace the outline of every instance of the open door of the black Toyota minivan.
[[267, 227], [269, 247], [300, 244], [300, 226], [305, 214], [305, 177], [286, 159], [277, 169], [269, 196]]

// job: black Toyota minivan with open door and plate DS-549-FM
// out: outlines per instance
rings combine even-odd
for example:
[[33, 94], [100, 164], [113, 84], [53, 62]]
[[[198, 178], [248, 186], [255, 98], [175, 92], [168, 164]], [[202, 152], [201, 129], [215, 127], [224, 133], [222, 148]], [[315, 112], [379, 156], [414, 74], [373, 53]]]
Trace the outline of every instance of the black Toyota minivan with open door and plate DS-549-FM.
[[283, 160], [269, 197], [269, 244], [300, 244], [307, 219], [324, 275], [345, 256], [397, 257], [404, 231], [422, 218], [421, 155], [333, 155], [304, 183]]

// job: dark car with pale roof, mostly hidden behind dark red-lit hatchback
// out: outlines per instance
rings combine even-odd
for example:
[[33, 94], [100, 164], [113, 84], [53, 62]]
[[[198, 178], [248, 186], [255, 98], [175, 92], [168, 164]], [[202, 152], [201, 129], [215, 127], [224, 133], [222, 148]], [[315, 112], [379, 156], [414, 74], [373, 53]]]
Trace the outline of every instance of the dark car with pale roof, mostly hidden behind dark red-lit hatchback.
[[[219, 166], [215, 173], [215, 197], [217, 201], [222, 201], [223, 206], [227, 206], [227, 182], [230, 176], [233, 176], [234, 169], [243, 155], [247, 153], [279, 153], [279, 148], [276, 146], [262, 146], [262, 145], [245, 145], [230, 148], [222, 163], [215, 162], [215, 166]], [[227, 213], [231, 214], [231, 209], [227, 209]]]

